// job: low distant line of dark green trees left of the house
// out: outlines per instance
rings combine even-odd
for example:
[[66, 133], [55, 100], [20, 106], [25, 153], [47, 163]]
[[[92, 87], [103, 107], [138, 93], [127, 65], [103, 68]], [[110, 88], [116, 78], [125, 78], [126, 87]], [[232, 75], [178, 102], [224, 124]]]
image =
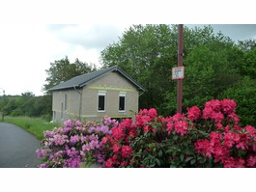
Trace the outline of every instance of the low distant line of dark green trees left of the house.
[[51, 121], [51, 105], [51, 95], [35, 96], [27, 92], [21, 96], [0, 96], [0, 111], [4, 111], [5, 116], [42, 117]]

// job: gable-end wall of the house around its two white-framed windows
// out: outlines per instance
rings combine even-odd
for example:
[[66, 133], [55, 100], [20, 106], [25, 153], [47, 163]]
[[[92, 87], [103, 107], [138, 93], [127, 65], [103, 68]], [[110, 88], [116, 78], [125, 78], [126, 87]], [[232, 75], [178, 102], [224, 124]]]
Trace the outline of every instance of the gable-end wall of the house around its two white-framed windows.
[[[105, 112], [98, 111], [98, 93], [106, 93]], [[126, 111], [119, 112], [119, 94], [126, 94]], [[117, 72], [109, 72], [83, 89], [82, 118], [100, 121], [111, 118], [133, 118], [129, 110], [138, 111], [138, 91], [126, 78]]]

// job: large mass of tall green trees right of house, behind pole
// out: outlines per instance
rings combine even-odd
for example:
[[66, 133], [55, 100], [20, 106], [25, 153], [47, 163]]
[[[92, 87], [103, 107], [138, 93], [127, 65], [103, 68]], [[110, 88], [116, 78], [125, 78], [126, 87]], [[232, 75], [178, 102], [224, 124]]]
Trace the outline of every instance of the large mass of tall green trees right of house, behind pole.
[[[101, 52], [104, 68], [119, 66], [147, 89], [140, 108], [168, 116], [177, 110], [177, 25], [133, 25]], [[232, 41], [211, 26], [184, 28], [183, 111], [210, 99], [232, 98], [242, 123], [256, 124], [256, 41]]]

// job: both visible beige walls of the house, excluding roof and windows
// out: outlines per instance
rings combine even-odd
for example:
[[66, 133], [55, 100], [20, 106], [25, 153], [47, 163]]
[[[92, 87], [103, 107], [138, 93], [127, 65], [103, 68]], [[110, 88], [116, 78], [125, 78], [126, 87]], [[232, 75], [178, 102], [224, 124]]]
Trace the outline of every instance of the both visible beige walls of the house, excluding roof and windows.
[[[80, 94], [79, 94], [79, 93]], [[98, 111], [98, 94], [106, 93], [105, 112]], [[119, 112], [119, 94], [126, 94], [126, 111]], [[67, 110], [65, 110], [67, 95]], [[52, 111], [54, 122], [79, 119], [81, 100], [81, 120], [100, 121], [104, 116], [111, 118], [134, 118], [129, 112], [138, 111], [139, 92], [118, 72], [109, 72], [99, 79], [90, 82], [81, 90], [62, 90], [53, 92]], [[62, 110], [63, 105], [63, 110]], [[62, 112], [63, 111], [63, 112]]]

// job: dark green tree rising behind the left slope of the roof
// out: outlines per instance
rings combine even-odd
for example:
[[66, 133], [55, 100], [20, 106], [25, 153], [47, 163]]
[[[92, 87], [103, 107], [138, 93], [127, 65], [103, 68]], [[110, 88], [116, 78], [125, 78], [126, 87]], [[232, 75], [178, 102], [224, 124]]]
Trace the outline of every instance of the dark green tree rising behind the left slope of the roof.
[[50, 63], [50, 68], [45, 70], [47, 73], [45, 81], [47, 83], [43, 85], [43, 90], [47, 91], [62, 81], [67, 81], [74, 76], [93, 70], [96, 70], [95, 66], [89, 66], [87, 63], [83, 63], [78, 59], [75, 59], [74, 63], [70, 63], [70, 60], [66, 56], [64, 59]]

